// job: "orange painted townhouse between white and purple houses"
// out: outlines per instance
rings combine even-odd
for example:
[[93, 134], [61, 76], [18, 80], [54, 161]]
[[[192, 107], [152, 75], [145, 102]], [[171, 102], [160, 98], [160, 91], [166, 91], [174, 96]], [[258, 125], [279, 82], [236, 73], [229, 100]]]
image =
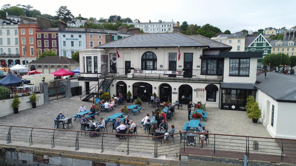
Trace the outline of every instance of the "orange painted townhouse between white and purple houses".
[[38, 57], [37, 30], [42, 30], [38, 24], [19, 24], [18, 26], [21, 64], [25, 64], [25, 54], [27, 55], [27, 63], [36, 60]]

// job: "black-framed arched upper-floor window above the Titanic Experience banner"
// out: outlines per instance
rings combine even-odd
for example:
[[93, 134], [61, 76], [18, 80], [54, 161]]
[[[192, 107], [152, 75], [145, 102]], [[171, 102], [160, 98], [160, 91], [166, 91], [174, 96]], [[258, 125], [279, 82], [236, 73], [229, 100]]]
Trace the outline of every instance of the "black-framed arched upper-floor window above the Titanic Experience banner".
[[157, 69], [157, 57], [155, 53], [147, 51], [142, 55], [142, 70], [156, 70]]

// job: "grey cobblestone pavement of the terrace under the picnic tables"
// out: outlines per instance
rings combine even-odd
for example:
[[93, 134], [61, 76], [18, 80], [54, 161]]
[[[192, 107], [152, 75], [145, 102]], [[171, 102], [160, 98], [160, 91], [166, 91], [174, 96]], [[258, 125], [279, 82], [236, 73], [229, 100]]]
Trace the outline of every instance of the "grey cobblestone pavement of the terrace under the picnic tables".
[[[1, 125], [13, 125], [13, 126], [28, 126], [28, 127], [42, 127], [42, 128], [54, 128], [54, 120], [59, 111], [65, 115], [66, 118], [71, 118], [71, 116], [75, 115], [78, 112], [79, 107], [81, 104], [86, 106], [86, 109], [90, 108], [90, 105], [93, 105], [92, 102], [82, 102], [80, 101], [80, 97], [72, 97], [72, 98], [62, 98], [58, 100], [50, 101], [47, 104], [42, 106], [38, 106], [37, 108], [30, 108], [27, 110], [20, 111], [18, 114], [11, 114], [0, 118]], [[129, 104], [127, 104], [129, 105]], [[107, 118], [114, 113], [120, 112], [120, 109], [123, 108], [124, 105], [117, 106], [114, 110], [111, 110], [110, 113], [101, 112], [99, 115], [96, 115], [96, 120], [99, 120], [100, 117]], [[137, 112], [136, 116], [130, 114], [129, 120], [133, 120], [137, 127], [137, 134], [138, 135], [148, 135], [144, 133], [144, 128], [140, 128], [141, 120], [146, 116], [147, 113], [150, 115], [154, 108], [147, 107], [147, 102], [144, 102], [142, 105], [141, 113]], [[257, 136], [257, 137], [270, 137], [266, 128], [262, 125], [262, 123], [252, 123], [247, 117], [247, 113], [243, 111], [232, 111], [232, 110], [220, 110], [220, 108], [206, 108], [207, 111], [207, 122], [201, 120], [201, 123], [205, 123], [206, 129], [209, 130], [209, 133], [215, 134], [233, 134], [233, 135], [242, 135], [242, 136]], [[187, 120], [187, 107], [186, 105], [183, 106], [183, 110], [179, 109], [175, 111], [176, 114], [173, 115], [172, 121], [168, 120], [168, 125], [170, 126], [173, 124], [175, 126], [176, 133], [178, 131], [183, 131], [182, 128]], [[78, 130], [80, 131], [80, 118], [77, 118], [76, 121], [73, 121], [72, 124], [73, 128], [69, 127], [69, 130]], [[1, 131], [4, 131], [4, 134], [0, 134], [1, 140], [6, 140], [6, 134], [8, 128], [1, 127]], [[108, 133], [112, 132], [112, 123], [107, 124]], [[0, 131], [0, 132], [1, 132]], [[44, 136], [40, 136], [40, 131], [42, 130], [35, 130], [32, 132], [33, 134], [33, 142], [42, 142], [46, 144], [51, 144], [52, 141], [52, 132], [53, 131], [42, 131]], [[103, 130], [104, 131], [104, 130]], [[17, 135], [17, 133], [22, 133]], [[12, 141], [24, 141], [28, 142], [28, 138], [30, 136], [30, 128], [22, 131], [18, 131], [16, 129], [12, 129]], [[107, 132], [107, 131], [106, 131]], [[17, 135], [17, 136], [14, 136]], [[34, 135], [35, 134], [35, 135]], [[38, 135], [39, 134], [39, 135]], [[38, 137], [40, 136], [40, 137]], [[42, 138], [41, 138], [42, 137]], [[126, 150], [127, 143], [125, 141], [119, 142], [118, 139], [114, 135], [104, 135], [104, 148], [113, 149], [113, 150]], [[213, 136], [210, 136], [210, 145], [209, 148], [213, 147]], [[55, 131], [55, 144], [56, 145], [69, 145], [72, 146], [75, 144], [76, 133], [62, 130], [62, 131]], [[133, 138], [133, 137], [132, 137]], [[216, 141], [220, 146], [216, 148], [227, 148], [227, 149], [234, 149], [234, 150], [245, 150], [245, 137], [236, 137], [236, 140], [229, 139], [228, 136], [217, 136]], [[24, 140], [22, 140], [24, 139]], [[95, 140], [96, 139], [96, 140]], [[238, 140], [240, 139], [240, 140]], [[89, 141], [90, 140], [90, 141]], [[95, 140], [95, 141], [94, 141]], [[198, 141], [198, 137], [196, 137]], [[250, 139], [250, 146], [252, 141], [257, 139]], [[106, 141], [106, 142], [105, 142]], [[160, 155], [161, 154], [169, 154], [169, 153], [176, 153], [178, 152], [179, 147], [179, 138], [176, 138], [176, 144], [173, 142], [169, 142], [170, 151], [165, 150], [167, 147], [163, 147], [159, 145]], [[267, 139], [264, 142], [262, 139], [260, 140], [261, 147], [264, 144], [274, 147], [269, 147], [270, 149], [278, 149], [277, 144], [273, 140]], [[88, 143], [91, 142], [91, 143]], [[83, 134], [79, 134], [79, 146], [80, 147], [94, 147], [97, 146], [98, 148], [101, 147], [102, 137], [93, 137], [89, 138], [89, 136], [83, 136]], [[152, 141], [151, 138], [143, 138], [143, 137], [136, 137], [133, 139], [129, 139], [129, 150], [130, 151], [137, 151], [137, 152], [149, 152], [154, 153], [154, 146], [155, 141]], [[159, 142], [160, 143], [160, 142]], [[26, 143], [27, 144], [27, 143]], [[135, 146], [132, 146], [135, 145]], [[137, 145], [137, 146], [136, 146]], [[141, 145], [142, 147], [139, 147]], [[132, 147], [132, 148], [131, 148]], [[265, 147], [266, 148], [266, 147]], [[258, 152], [258, 151], [257, 151]], [[260, 152], [260, 150], [259, 150]], [[265, 149], [264, 152], [271, 152], [268, 149]]]

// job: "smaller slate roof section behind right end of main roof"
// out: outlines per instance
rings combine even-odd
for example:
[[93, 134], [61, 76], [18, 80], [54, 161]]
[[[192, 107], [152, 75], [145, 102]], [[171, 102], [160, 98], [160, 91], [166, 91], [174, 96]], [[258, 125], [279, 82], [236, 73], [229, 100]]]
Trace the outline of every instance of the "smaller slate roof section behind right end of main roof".
[[192, 38], [198, 42], [201, 42], [205, 45], [210, 46], [210, 48], [231, 48], [230, 45], [220, 43], [216, 40], [212, 40], [210, 38], [204, 37], [202, 35], [188, 35], [189, 38]]

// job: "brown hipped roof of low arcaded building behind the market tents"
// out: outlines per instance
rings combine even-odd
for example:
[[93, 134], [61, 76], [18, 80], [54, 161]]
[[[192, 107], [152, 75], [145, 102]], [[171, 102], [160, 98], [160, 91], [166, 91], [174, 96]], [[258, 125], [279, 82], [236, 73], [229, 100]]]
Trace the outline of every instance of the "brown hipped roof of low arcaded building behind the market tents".
[[79, 64], [79, 62], [65, 56], [46, 56], [28, 64]]

